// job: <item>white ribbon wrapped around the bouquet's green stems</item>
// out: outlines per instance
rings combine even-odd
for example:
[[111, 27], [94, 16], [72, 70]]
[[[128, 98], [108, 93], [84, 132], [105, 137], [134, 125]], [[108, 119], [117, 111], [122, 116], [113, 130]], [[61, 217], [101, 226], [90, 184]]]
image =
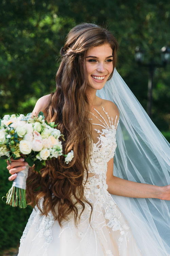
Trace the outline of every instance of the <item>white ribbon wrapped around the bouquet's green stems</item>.
[[29, 165], [23, 171], [17, 172], [17, 176], [13, 181], [13, 187], [26, 189], [26, 180], [28, 177]]

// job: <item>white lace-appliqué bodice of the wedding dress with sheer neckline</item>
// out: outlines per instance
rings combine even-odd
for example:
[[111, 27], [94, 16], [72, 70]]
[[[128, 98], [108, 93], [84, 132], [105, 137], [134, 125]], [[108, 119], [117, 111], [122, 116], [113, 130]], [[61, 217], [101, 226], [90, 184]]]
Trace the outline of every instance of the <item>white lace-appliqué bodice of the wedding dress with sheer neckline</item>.
[[[119, 123], [117, 116], [115, 119], [109, 117], [108, 113], [102, 107], [103, 113], [107, 118], [107, 121], [94, 109], [95, 113], [91, 113], [93, 118], [92, 126], [94, 127], [93, 137], [95, 142], [92, 145], [92, 152], [90, 155], [91, 161], [89, 164], [88, 180], [93, 177], [96, 180], [96, 186], [107, 188], [106, 185], [106, 172], [107, 162], [114, 157], [117, 147], [116, 143], [116, 129]], [[94, 181], [93, 181], [94, 182]]]

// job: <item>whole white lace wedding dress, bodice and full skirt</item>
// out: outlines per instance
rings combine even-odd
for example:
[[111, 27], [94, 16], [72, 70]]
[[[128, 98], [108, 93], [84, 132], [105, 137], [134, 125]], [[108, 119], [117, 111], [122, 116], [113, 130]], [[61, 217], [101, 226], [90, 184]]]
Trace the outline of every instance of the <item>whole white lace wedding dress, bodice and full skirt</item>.
[[[102, 112], [102, 115], [100, 114]], [[88, 180], [84, 187], [87, 204], [78, 226], [74, 218], [61, 228], [51, 213], [41, 216], [35, 207], [20, 240], [18, 256], [141, 256], [132, 231], [107, 191], [107, 162], [116, 150], [115, 120], [102, 107], [91, 113], [94, 141]]]

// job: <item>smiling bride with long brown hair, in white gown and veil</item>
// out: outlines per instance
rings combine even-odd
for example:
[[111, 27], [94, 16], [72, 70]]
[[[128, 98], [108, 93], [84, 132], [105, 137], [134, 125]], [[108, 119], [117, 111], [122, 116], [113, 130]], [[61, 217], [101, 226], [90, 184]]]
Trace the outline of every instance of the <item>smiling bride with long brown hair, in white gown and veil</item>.
[[[117, 73], [117, 48], [94, 24], [66, 38], [56, 91], [32, 115], [58, 124], [74, 158], [48, 161], [41, 175], [30, 170], [34, 209], [18, 256], [170, 255], [169, 144]], [[8, 162], [9, 180], [26, 165]]]

